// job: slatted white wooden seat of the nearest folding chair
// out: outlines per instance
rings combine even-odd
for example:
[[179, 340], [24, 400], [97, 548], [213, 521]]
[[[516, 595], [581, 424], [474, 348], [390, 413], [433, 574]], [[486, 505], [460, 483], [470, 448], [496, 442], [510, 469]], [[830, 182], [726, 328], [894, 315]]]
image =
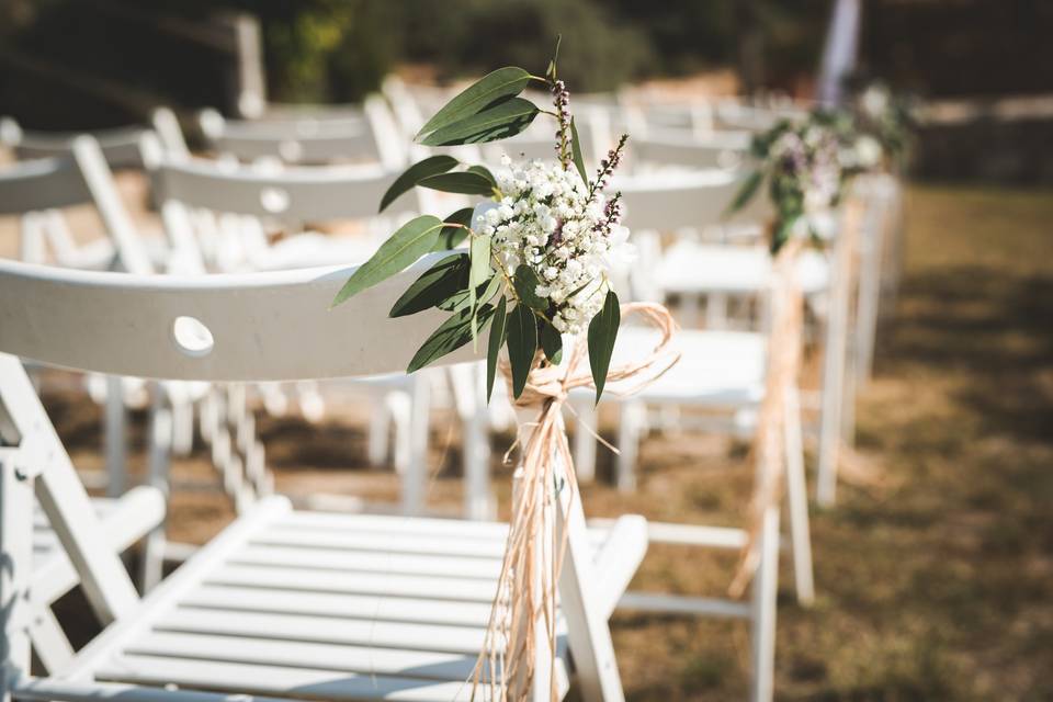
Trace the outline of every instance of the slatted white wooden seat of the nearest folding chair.
[[[632, 543], [616, 547], [631, 554], [620, 567], [635, 570], [646, 522], [631, 519]], [[590, 535], [602, 545], [619, 533], [629, 532]], [[500, 523], [299, 512], [269, 498], [71, 670], [99, 682], [276, 698], [468, 699], [506, 535]], [[627, 582], [631, 573], [610, 577]], [[561, 693], [568, 670], [561, 637]]]

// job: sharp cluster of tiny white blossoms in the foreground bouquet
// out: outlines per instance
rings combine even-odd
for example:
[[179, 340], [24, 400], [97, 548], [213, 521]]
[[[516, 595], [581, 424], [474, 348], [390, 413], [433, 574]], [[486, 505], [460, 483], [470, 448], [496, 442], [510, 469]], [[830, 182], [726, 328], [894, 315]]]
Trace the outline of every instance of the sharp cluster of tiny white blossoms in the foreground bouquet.
[[603, 306], [605, 274], [626, 253], [629, 231], [621, 210], [589, 189], [574, 169], [506, 156], [497, 174], [503, 197], [474, 228], [509, 276], [520, 264], [536, 274], [534, 291], [550, 302], [545, 316], [563, 333], [578, 333]]

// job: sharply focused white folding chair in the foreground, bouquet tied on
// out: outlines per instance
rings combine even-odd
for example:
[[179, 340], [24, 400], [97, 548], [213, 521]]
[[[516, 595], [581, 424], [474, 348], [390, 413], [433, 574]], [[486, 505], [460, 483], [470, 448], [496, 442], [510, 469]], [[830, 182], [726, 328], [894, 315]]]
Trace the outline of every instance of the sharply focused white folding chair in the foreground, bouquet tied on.
[[[469, 698], [503, 525], [295, 512], [269, 498], [138, 601], [15, 358], [210, 383], [395, 372], [441, 315], [392, 320], [386, 310], [434, 260], [333, 312], [348, 269], [186, 279], [0, 261], [0, 352], [14, 354], [0, 356], [4, 699]], [[114, 622], [48, 677], [30, 673], [34, 492], [89, 601]], [[563, 697], [574, 676], [585, 700], [619, 701], [607, 620], [644, 555], [646, 522], [590, 532], [577, 494], [563, 495], [567, 518], [552, 526], [567, 539], [557, 663], [539, 643], [531, 699], [548, 699], [550, 680]]]

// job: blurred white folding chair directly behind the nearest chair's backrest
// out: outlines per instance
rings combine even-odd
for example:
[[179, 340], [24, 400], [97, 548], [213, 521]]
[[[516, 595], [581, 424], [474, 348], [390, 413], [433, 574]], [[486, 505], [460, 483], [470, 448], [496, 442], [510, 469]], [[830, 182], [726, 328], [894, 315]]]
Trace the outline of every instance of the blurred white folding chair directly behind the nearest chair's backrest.
[[[161, 216], [177, 250], [188, 251], [188, 259], [199, 260], [197, 268], [218, 271], [276, 270], [319, 265], [342, 261], [361, 263], [372, 256], [377, 239], [359, 236], [355, 239], [333, 239], [318, 234], [296, 234], [276, 246], [269, 246], [264, 226], [268, 222], [301, 231], [309, 223], [326, 220], [356, 220], [366, 223], [376, 234], [387, 235], [396, 223], [415, 211], [438, 211], [439, 205], [424, 197], [424, 193], [406, 194], [390, 206], [392, 214], [377, 217], [376, 203], [393, 181], [393, 176], [376, 166], [314, 166], [282, 169], [254, 169], [246, 166], [225, 166], [204, 159], [180, 159], [163, 154], [146, 140], [145, 162], [154, 191], [161, 203]], [[448, 205], [451, 210], [455, 205]], [[231, 231], [233, 230], [233, 231]], [[234, 253], [224, 253], [215, 241], [234, 238]], [[227, 250], [229, 250], [229, 246]], [[214, 253], [206, 256], [206, 251]], [[206, 263], [211, 263], [208, 267]], [[423, 486], [427, 476], [416, 469], [424, 465], [428, 448], [428, 423], [414, 422], [414, 412], [427, 417], [431, 385], [442, 374], [424, 373], [408, 376], [405, 373], [371, 378], [367, 382], [301, 385], [304, 393], [319, 407], [324, 406], [326, 392], [365, 392], [376, 398], [377, 411], [372, 415], [370, 457], [374, 464], [384, 462], [387, 452], [387, 420], [395, 420], [395, 442], [392, 454], [395, 467], [403, 475], [403, 506], [411, 512], [424, 509]], [[456, 383], [457, 377], [444, 378]], [[472, 385], [474, 388], [474, 384]], [[270, 386], [268, 394], [279, 392]], [[454, 388], [461, 419], [471, 427], [475, 419], [464, 412], [482, 412], [469, 389]], [[460, 399], [458, 399], [460, 398]], [[272, 405], [280, 405], [272, 400]], [[417, 433], [411, 428], [417, 427]], [[486, 437], [476, 431], [464, 434], [476, 441], [466, 448], [465, 475], [486, 474], [488, 458]], [[484, 486], [480, 480], [469, 480], [469, 486]], [[490, 496], [465, 495], [467, 513], [482, 516], [480, 505], [489, 503]]]

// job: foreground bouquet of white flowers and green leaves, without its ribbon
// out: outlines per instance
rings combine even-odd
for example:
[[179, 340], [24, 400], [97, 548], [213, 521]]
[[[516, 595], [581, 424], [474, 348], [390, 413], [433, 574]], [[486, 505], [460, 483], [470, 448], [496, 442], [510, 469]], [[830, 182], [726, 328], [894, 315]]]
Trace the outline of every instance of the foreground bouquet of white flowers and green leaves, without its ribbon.
[[[557, 47], [558, 53], [558, 47]], [[531, 83], [552, 94], [551, 109], [520, 97]], [[507, 349], [514, 397], [532, 367], [558, 363], [562, 335], [588, 330], [589, 362], [599, 401], [620, 325], [618, 295], [608, 278], [624, 257], [621, 195], [604, 188], [621, 160], [619, 139], [590, 178], [581, 155], [569, 94], [556, 75], [500, 68], [442, 107], [417, 135], [426, 146], [496, 141], [521, 133], [539, 115], [555, 120], [554, 162], [513, 163], [502, 169], [465, 165], [448, 155], [414, 163], [388, 189], [381, 211], [410, 189], [479, 195], [488, 201], [439, 218], [417, 217], [390, 236], [347, 281], [333, 305], [404, 270], [430, 251], [449, 250], [390, 310], [393, 317], [428, 308], [450, 313], [409, 363], [412, 373], [475, 341], [487, 327], [487, 397], [498, 356]], [[474, 212], [474, 214], [473, 214]]]

